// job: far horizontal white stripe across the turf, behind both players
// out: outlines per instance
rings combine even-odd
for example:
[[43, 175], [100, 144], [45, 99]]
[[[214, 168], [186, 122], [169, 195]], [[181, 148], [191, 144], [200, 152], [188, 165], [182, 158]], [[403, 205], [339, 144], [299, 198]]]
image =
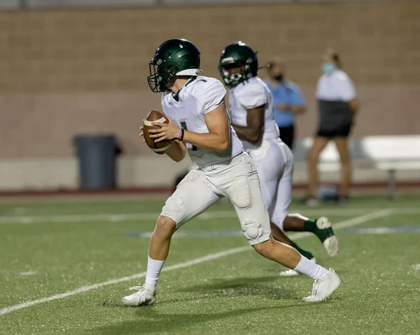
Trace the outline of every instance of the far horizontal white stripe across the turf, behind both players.
[[[390, 208], [399, 214], [420, 214], [420, 208]], [[300, 211], [300, 210], [296, 210]], [[381, 211], [381, 208], [307, 208], [302, 209], [304, 215], [360, 215], [372, 211]], [[293, 212], [293, 211], [291, 211]], [[122, 213], [122, 214], [69, 214], [69, 215], [25, 215], [3, 216], [0, 224], [31, 224], [31, 223], [71, 223], [71, 222], [123, 222], [129, 220], [155, 220], [159, 213]], [[235, 211], [209, 211], [197, 217], [200, 220], [216, 218], [237, 218]]]

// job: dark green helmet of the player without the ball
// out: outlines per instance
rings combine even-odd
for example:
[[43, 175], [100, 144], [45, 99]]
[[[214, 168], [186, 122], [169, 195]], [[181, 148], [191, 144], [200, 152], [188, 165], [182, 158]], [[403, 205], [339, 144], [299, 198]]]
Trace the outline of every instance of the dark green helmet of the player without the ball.
[[[229, 69], [235, 68], [238, 71], [230, 73]], [[232, 43], [222, 51], [218, 69], [226, 86], [235, 87], [249, 78], [257, 76], [257, 52], [244, 42]]]

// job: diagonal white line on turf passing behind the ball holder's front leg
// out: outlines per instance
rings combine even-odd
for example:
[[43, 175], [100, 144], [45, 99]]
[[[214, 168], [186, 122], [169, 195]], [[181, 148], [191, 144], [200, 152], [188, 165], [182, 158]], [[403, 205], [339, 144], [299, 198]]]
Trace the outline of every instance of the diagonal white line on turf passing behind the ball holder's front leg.
[[[391, 213], [393, 213], [392, 209], [384, 209], [382, 211], [372, 212], [372, 213], [369, 213], [369, 214], [366, 214], [366, 215], [358, 216], [357, 218], [353, 218], [353, 219], [350, 219], [350, 220], [346, 220], [346, 221], [342, 221], [342, 222], [339, 222], [337, 224], [334, 224], [334, 229], [338, 230], [338, 229], [343, 229], [343, 228], [346, 228], [346, 227], [356, 226], [356, 224], [361, 224], [361, 223], [364, 223], [364, 222], [367, 222], [367, 221], [370, 221], [370, 220], [373, 220], [373, 219], [377, 219], [377, 218], [383, 218], [385, 216], [391, 215]], [[307, 236], [310, 236], [310, 235], [311, 235], [311, 233], [309, 233], [309, 232], [302, 232], [302, 233], [293, 234], [293, 240], [304, 238], [304, 237], [307, 237]], [[243, 252], [243, 251], [246, 251], [246, 250], [251, 250], [251, 248], [249, 246], [246, 246], [246, 247], [233, 248], [233, 249], [228, 249], [228, 250], [221, 251], [221, 252], [216, 252], [214, 254], [209, 254], [209, 255], [204, 256], [204, 257], [192, 259], [188, 262], [183, 262], [183, 263], [174, 264], [174, 265], [171, 265], [171, 266], [166, 266], [165, 268], [162, 269], [162, 272], [167, 272], [167, 271], [186, 268], [188, 266], [193, 266], [193, 265], [196, 265], [196, 264], [204, 263], [204, 262], [207, 262], [207, 261], [211, 261], [213, 259], [218, 259], [218, 258], [221, 258], [221, 257], [224, 257], [224, 256], [236, 254], [238, 252]], [[122, 282], [132, 280], [132, 279], [143, 278], [145, 276], [146, 276], [146, 272], [141, 272], [141, 273], [134, 274], [132, 276], [117, 278], [117, 279], [109, 280], [109, 281], [106, 281], [106, 282], [103, 282], [103, 283], [97, 283], [97, 284], [93, 284], [93, 285], [82, 286], [82, 287], [79, 287], [78, 289], [73, 290], [73, 291], [68, 291], [68, 292], [64, 292], [64, 293], [61, 293], [61, 294], [55, 294], [51, 297], [45, 297], [45, 298], [38, 299], [38, 300], [27, 301], [27, 302], [24, 302], [23, 304], [19, 304], [19, 305], [15, 305], [15, 306], [0, 309], [0, 315], [11, 313], [13, 311], [18, 311], [22, 308], [27, 308], [29, 306], [42, 304], [43, 302], [48, 302], [48, 301], [52, 301], [52, 300], [57, 300], [57, 299], [70, 297], [72, 295], [82, 293], [82, 292], [87, 292], [87, 291], [90, 291], [90, 290], [96, 290], [99, 287], [103, 287], [103, 286], [107, 286], [107, 285], [113, 285], [113, 284], [117, 284], [117, 283], [122, 283]]]

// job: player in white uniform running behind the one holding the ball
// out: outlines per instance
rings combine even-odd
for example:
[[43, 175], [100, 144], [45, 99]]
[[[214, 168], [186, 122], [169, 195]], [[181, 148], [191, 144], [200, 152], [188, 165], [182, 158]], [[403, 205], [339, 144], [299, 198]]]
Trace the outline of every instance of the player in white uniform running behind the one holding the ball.
[[[225, 85], [229, 87], [232, 127], [260, 176], [262, 196], [272, 222], [274, 238], [314, 260], [311, 252], [303, 250], [283, 234], [283, 231], [311, 231], [323, 243], [328, 255], [335, 257], [338, 242], [328, 218], [309, 220], [299, 214], [288, 215], [293, 154], [279, 139], [272, 93], [257, 76], [256, 52], [243, 42], [232, 43], [223, 50], [218, 68]], [[281, 272], [281, 276], [297, 274], [293, 270]]]

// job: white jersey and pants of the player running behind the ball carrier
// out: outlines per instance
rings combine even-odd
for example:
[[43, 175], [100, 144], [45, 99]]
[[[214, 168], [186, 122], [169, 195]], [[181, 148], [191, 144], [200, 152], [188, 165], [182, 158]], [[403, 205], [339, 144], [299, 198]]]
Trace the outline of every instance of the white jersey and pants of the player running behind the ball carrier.
[[257, 142], [242, 141], [251, 156], [261, 181], [262, 197], [271, 221], [283, 230], [283, 220], [290, 204], [290, 181], [293, 174], [293, 155], [279, 140], [279, 128], [274, 120], [271, 92], [258, 77], [249, 78], [243, 85], [229, 90], [231, 122], [235, 127], [247, 127], [247, 111], [264, 106], [264, 125]]

